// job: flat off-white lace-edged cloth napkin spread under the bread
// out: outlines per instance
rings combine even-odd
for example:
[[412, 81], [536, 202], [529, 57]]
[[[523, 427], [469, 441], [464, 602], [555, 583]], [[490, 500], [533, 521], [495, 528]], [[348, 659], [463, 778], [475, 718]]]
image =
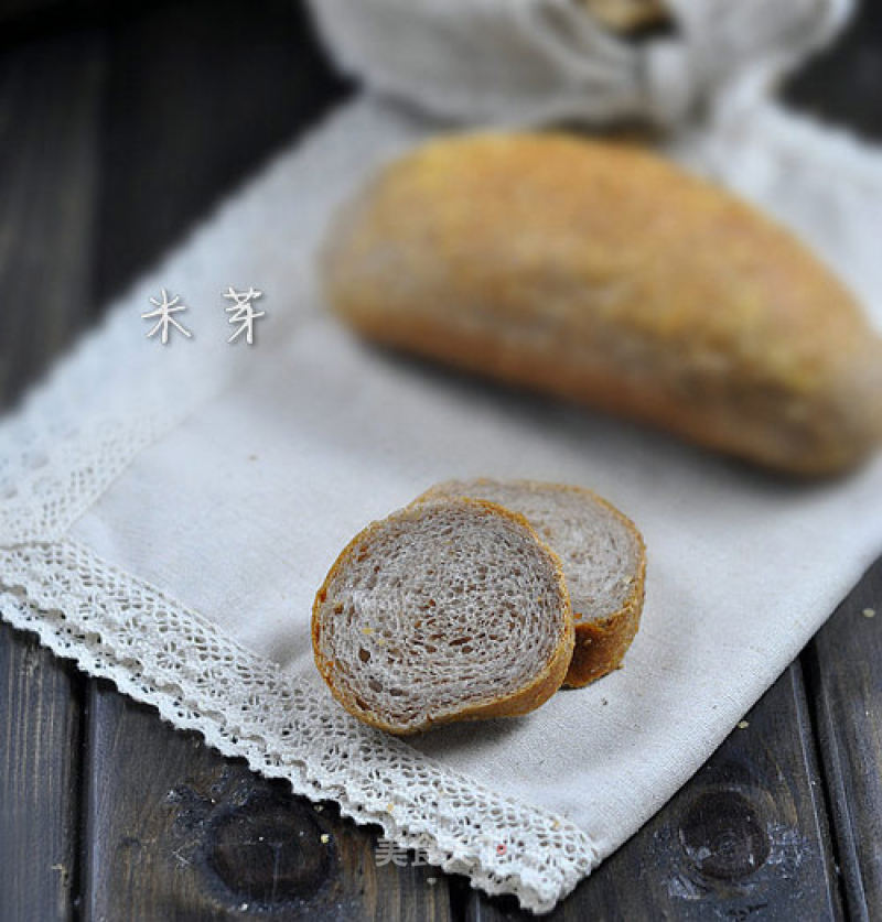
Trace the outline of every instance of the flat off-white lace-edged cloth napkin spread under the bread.
[[[882, 154], [755, 86], [714, 90], [710, 119], [664, 152], [789, 225], [882, 325]], [[0, 615], [222, 752], [542, 912], [700, 767], [879, 554], [882, 460], [782, 482], [357, 341], [316, 290], [315, 248], [365, 176], [437, 129], [419, 107], [346, 104], [0, 424]], [[252, 345], [227, 341], [228, 286], [262, 292]], [[192, 334], [166, 345], [141, 318], [163, 289]], [[475, 475], [581, 484], [631, 516], [643, 623], [593, 686], [398, 740], [318, 676], [312, 597], [370, 519]]]

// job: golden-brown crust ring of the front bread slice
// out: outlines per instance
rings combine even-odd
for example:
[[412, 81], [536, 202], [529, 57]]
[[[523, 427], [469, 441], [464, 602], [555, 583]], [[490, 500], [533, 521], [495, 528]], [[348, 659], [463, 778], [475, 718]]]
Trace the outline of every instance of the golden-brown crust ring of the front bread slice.
[[[346, 690], [342, 688], [334, 681], [334, 662], [329, 660], [321, 650], [320, 609], [327, 597], [329, 587], [338, 572], [346, 565], [356, 550], [369, 542], [372, 535], [383, 525], [381, 521], [370, 522], [370, 524], [358, 532], [358, 534], [356, 534], [355, 538], [346, 544], [343, 551], [341, 551], [336, 561], [334, 561], [334, 564], [331, 566], [331, 570], [327, 572], [327, 576], [324, 578], [322, 586], [315, 594], [315, 600], [312, 606], [312, 650], [315, 659], [315, 666], [327, 684], [327, 687], [331, 690], [331, 694], [337, 699], [337, 702], [343, 705], [349, 714], [357, 717], [363, 723], [398, 736], [408, 736], [421, 733], [422, 730], [427, 730], [430, 727], [438, 726], [440, 724], [449, 724], [459, 720], [488, 719], [491, 717], [514, 717], [535, 711], [539, 707], [539, 705], [548, 701], [548, 698], [551, 697], [551, 695], [553, 695], [560, 687], [563, 682], [563, 677], [567, 674], [570, 660], [572, 659], [574, 644], [572, 607], [570, 605], [570, 594], [563, 579], [563, 568], [558, 555], [539, 538], [530, 523], [517, 512], [512, 512], [497, 503], [485, 502], [484, 500], [463, 498], [455, 501], [486, 509], [495, 516], [503, 516], [509, 521], [516, 522], [529, 532], [530, 536], [536, 541], [537, 545], [541, 549], [553, 568], [555, 582], [558, 586], [560, 603], [562, 606], [562, 630], [560, 632], [560, 637], [558, 638], [558, 643], [542, 670], [538, 672], [527, 685], [502, 697], [493, 698], [487, 702], [477, 702], [455, 714], [445, 715], [441, 718], [430, 718], [424, 724], [404, 729], [400, 726], [384, 720], [370, 711], [359, 707], [354, 697], [347, 694]], [[410, 507], [406, 507], [406, 509], [398, 510], [397, 513], [392, 514], [407, 512], [411, 508], [412, 505]]]

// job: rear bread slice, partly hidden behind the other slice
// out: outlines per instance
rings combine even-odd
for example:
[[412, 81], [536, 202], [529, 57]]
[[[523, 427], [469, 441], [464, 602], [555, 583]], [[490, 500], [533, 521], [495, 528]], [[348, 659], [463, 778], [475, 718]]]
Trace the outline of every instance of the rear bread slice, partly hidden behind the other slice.
[[646, 551], [634, 523], [590, 490], [533, 480], [449, 480], [415, 502], [454, 496], [519, 512], [560, 556], [576, 625], [564, 684], [587, 685], [619, 669], [643, 610]]

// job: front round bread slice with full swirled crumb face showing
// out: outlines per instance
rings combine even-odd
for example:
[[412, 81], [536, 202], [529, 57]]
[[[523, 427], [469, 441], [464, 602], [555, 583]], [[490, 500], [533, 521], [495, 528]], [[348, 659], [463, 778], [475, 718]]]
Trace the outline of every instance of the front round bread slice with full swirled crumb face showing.
[[459, 497], [374, 522], [312, 610], [315, 664], [351, 714], [394, 734], [526, 714], [567, 673], [560, 561], [526, 519]]

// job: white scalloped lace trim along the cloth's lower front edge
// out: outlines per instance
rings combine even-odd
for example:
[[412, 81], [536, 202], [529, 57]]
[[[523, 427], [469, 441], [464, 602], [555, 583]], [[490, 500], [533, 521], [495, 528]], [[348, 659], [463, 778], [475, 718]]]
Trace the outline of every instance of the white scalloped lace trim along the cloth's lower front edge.
[[[0, 616], [294, 792], [546, 912], [598, 861], [578, 827], [441, 768], [72, 541], [0, 551]], [[503, 847], [501, 847], [503, 846]]]

